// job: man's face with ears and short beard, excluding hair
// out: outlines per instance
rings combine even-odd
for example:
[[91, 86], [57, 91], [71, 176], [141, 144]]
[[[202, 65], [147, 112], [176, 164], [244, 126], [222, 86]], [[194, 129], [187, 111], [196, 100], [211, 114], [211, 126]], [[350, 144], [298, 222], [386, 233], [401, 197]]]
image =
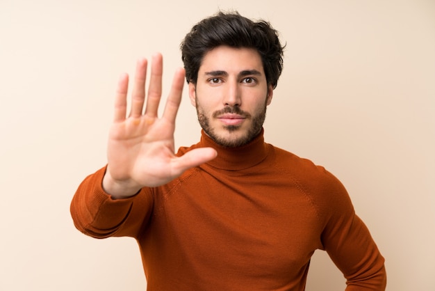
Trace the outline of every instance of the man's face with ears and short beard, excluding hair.
[[204, 132], [221, 146], [243, 146], [260, 132], [273, 89], [255, 49], [220, 46], [207, 52], [197, 84], [189, 84]]

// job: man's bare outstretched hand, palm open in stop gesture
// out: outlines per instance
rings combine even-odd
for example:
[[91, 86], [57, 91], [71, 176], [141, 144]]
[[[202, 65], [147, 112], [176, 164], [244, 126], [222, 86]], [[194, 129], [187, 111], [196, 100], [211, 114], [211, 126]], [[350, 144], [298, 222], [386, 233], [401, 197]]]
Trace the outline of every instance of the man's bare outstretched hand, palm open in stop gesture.
[[212, 148], [191, 150], [181, 157], [174, 155], [175, 118], [185, 73], [181, 68], [175, 72], [163, 116], [158, 118], [162, 74], [163, 58], [161, 54], [156, 54], [152, 58], [149, 89], [145, 93], [147, 60], [138, 61], [128, 117], [126, 96], [129, 76], [123, 74], [120, 77], [108, 140], [108, 168], [103, 179], [104, 190], [113, 198], [133, 196], [142, 187], [156, 187], [170, 182], [188, 168], [216, 156]]

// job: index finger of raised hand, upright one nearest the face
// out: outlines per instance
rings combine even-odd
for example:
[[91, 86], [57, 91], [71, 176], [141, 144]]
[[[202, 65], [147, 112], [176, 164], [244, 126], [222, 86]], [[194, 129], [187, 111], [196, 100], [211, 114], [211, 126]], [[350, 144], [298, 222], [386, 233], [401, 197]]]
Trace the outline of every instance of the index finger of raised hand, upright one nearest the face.
[[183, 68], [179, 68], [172, 81], [171, 91], [167, 97], [165, 111], [163, 112], [163, 118], [169, 120], [171, 123], [175, 123], [177, 117], [177, 111], [181, 103], [181, 95], [183, 94], [185, 71]]

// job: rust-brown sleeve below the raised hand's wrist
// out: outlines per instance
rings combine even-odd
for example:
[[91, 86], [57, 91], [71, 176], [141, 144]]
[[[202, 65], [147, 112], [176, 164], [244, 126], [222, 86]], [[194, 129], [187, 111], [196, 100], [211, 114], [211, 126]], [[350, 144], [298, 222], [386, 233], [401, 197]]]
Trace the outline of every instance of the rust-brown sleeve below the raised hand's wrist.
[[95, 238], [138, 237], [149, 219], [153, 200], [142, 189], [136, 196], [114, 200], [101, 186], [106, 167], [81, 182], [72, 198], [74, 226]]

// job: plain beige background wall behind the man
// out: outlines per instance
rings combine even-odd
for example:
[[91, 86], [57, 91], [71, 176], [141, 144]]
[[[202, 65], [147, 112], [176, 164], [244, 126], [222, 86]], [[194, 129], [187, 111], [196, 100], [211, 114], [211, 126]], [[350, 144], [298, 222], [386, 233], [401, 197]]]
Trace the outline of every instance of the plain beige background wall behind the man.
[[[0, 0], [0, 290], [145, 290], [136, 242], [81, 235], [69, 201], [106, 162], [119, 74], [160, 51], [168, 85], [179, 42], [217, 8], [288, 43], [267, 141], [342, 180], [388, 290], [435, 290], [433, 0]], [[177, 146], [198, 137], [185, 95]], [[344, 288], [317, 252], [306, 290]]]

